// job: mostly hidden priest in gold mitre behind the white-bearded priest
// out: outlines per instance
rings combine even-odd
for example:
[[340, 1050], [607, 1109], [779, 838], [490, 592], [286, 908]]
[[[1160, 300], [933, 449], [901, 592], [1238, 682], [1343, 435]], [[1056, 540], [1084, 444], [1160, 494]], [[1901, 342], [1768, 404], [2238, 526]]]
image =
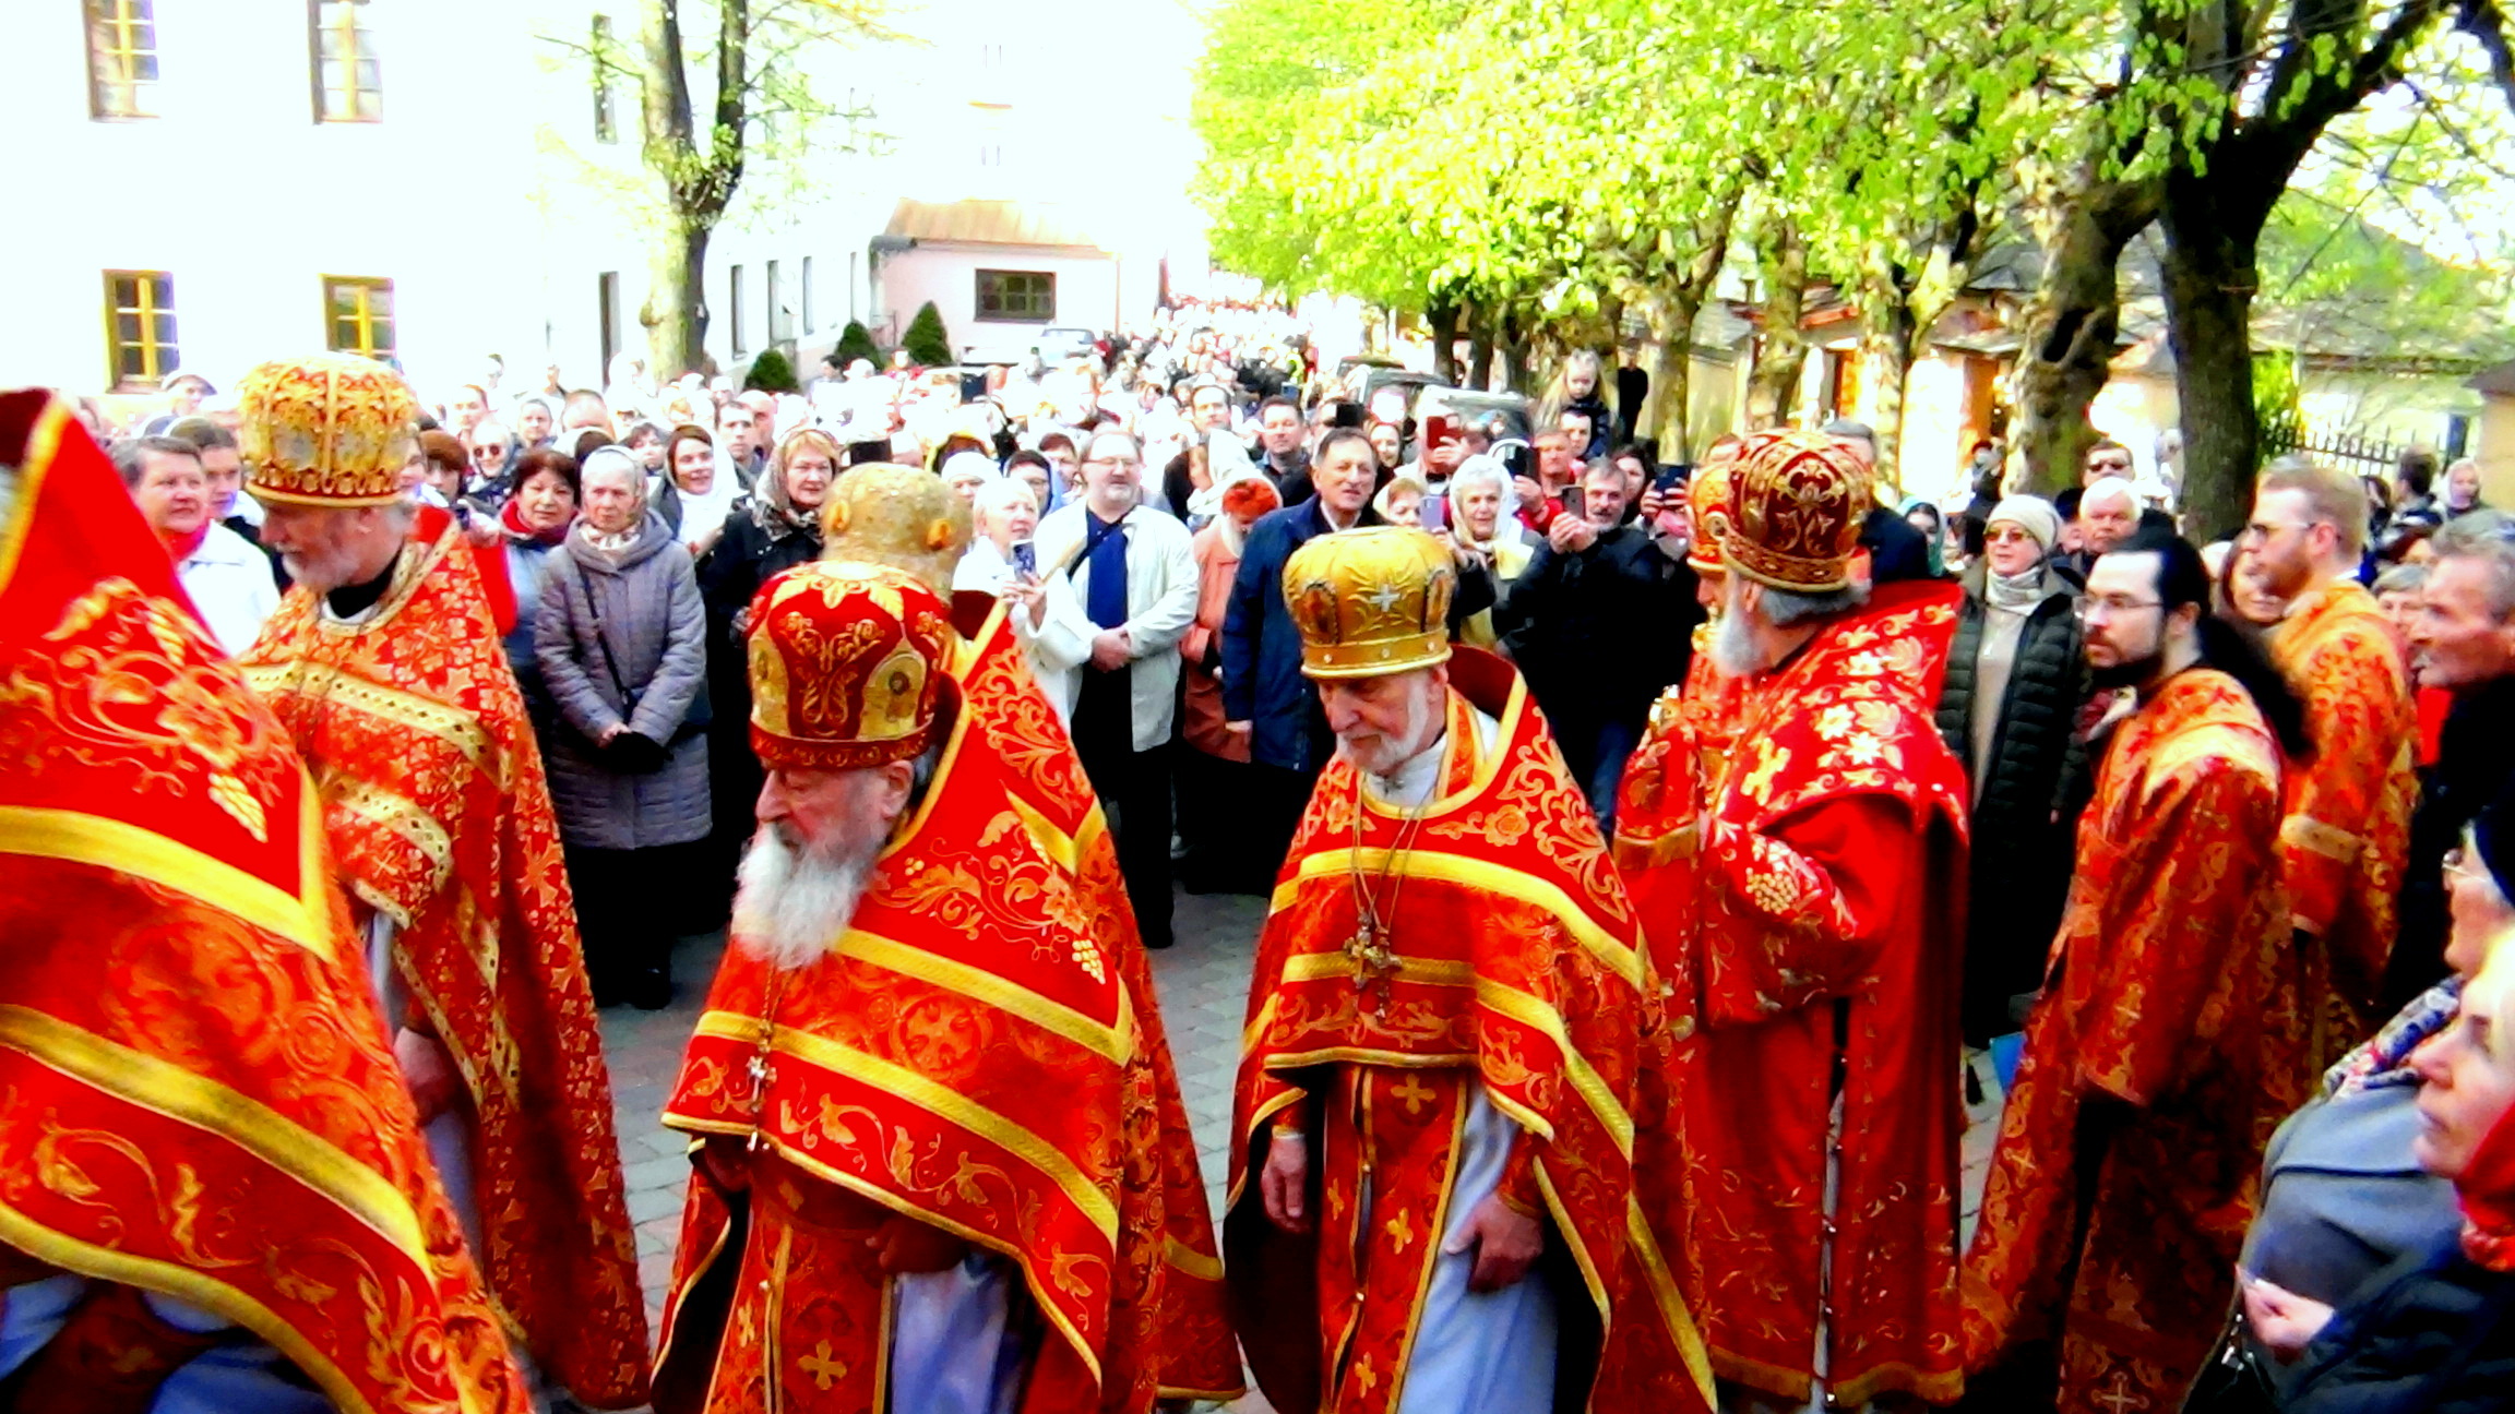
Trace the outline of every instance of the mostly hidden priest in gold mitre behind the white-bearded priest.
[[[938, 476], [908, 465], [855, 465], [830, 483], [822, 503], [825, 561], [903, 569], [936, 594], [951, 594], [951, 574], [968, 548], [968, 503]], [[1114, 961], [1144, 1032], [1162, 1115], [1162, 1220], [1169, 1233], [1154, 1339], [1162, 1396], [1237, 1399], [1245, 1389], [1240, 1344], [1225, 1311], [1222, 1258], [1205, 1205], [1197, 1135], [1187, 1122], [1152, 966], [1117, 868], [1117, 840], [1056, 707], [1031, 677], [1019, 604], [963, 591], [951, 594], [951, 606], [958, 629], [951, 674], [961, 684], [961, 704], [973, 730], [1011, 765], [1006, 788], [1021, 823], [1081, 893], [1094, 944]]]

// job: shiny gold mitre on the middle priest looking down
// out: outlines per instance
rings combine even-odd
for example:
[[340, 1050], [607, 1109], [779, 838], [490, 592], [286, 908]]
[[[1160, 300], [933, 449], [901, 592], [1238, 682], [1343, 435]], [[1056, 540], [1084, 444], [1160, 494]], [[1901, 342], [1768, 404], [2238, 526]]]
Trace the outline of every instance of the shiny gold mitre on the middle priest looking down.
[[1283, 566], [1283, 599], [1300, 626], [1300, 672], [1310, 677], [1381, 677], [1449, 662], [1456, 594], [1449, 551], [1411, 526], [1318, 536]]

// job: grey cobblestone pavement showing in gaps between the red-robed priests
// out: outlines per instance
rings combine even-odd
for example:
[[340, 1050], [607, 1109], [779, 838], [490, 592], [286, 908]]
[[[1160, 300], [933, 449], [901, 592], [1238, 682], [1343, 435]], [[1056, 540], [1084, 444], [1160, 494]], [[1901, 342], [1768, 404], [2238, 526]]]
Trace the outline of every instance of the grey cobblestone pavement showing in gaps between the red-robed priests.
[[[1258, 951], [1258, 926], [1265, 901], [1217, 893], [1177, 901], [1177, 938], [1152, 954], [1154, 986], [1162, 994], [1162, 1024], [1169, 1027], [1172, 1057], [1187, 1120], [1197, 1132], [1197, 1157], [1205, 1165], [1205, 1195], [1215, 1218], [1222, 1215], [1222, 1177], [1232, 1127], [1232, 1067], [1240, 1062], [1240, 1022], [1247, 1014], [1250, 961]], [[666, 1011], [614, 1006], [601, 1014], [604, 1049], [611, 1059], [611, 1097], [619, 1110], [621, 1162], [629, 1177], [629, 1220], [636, 1223], [639, 1281], [646, 1286], [646, 1318], [664, 1311], [664, 1281], [672, 1276], [672, 1243], [682, 1220], [682, 1188], [689, 1177], [687, 1142], [664, 1130], [656, 1115], [664, 1092], [682, 1064], [682, 1044], [699, 1019], [707, 979], [724, 951], [722, 933], [682, 941], [674, 956], [679, 996]], [[1989, 1064], [1982, 1067], [1989, 1077]], [[1989, 1170], [1992, 1137], [1999, 1120], [1999, 1092], [1967, 1112], [1964, 1135], [1964, 1228], [1972, 1230]], [[1230, 1406], [1232, 1414], [1268, 1414], [1255, 1394]]]

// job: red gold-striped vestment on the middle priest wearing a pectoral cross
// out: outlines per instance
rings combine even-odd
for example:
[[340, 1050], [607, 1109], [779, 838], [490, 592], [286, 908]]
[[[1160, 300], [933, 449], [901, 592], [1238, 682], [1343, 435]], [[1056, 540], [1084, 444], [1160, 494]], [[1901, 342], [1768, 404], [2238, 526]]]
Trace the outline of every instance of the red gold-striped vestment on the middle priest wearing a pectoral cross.
[[[1559, 1391], [1574, 1409], [1705, 1406], [1693, 1316], [1632, 1200], [1637, 1037], [1655, 989], [1637, 918], [1519, 674], [1476, 649], [1454, 649], [1449, 672], [1436, 798], [1398, 815], [1363, 798], [1351, 762], [1330, 762], [1258, 941], [1225, 1225], [1242, 1346], [1285, 1414], [1396, 1409], [1474, 1079], [1524, 1130], [1496, 1193], [1527, 1190], [1577, 1273], [1559, 1306]], [[1499, 720], [1491, 750], [1471, 707]], [[1386, 881], [1376, 949], [1358, 878]], [[1298, 1105], [1356, 1132], [1330, 1135], [1313, 1162], [1320, 1233], [1305, 1238], [1265, 1218], [1247, 1172], [1263, 1162], [1250, 1147]], [[1366, 1145], [1376, 1208], [1361, 1230], [1351, 1155]], [[1582, 1361], [1602, 1336], [1635, 1356], [1592, 1374]]]

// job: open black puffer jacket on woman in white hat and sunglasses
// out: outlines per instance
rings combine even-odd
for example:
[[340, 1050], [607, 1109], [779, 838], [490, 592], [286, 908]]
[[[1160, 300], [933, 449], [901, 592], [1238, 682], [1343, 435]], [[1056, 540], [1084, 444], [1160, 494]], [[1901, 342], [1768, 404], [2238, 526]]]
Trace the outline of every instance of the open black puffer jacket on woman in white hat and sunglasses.
[[1964, 606], [1939, 689], [1939, 737], [1974, 770], [1974, 712], [1999, 712], [1989, 777], [1974, 782], [1972, 893], [1964, 931], [1964, 1037], [1982, 1044], [2015, 1032], [2009, 996], [2035, 991], [2045, 954], [2070, 893], [2067, 803], [2087, 775], [2085, 745], [2072, 732], [2087, 699], [2080, 657], [2077, 599], [2065, 579], [2045, 571], [2042, 601], [2017, 634], [2017, 657], [1999, 702], [1974, 699], [1987, 609], [1984, 566], [1964, 571]]

